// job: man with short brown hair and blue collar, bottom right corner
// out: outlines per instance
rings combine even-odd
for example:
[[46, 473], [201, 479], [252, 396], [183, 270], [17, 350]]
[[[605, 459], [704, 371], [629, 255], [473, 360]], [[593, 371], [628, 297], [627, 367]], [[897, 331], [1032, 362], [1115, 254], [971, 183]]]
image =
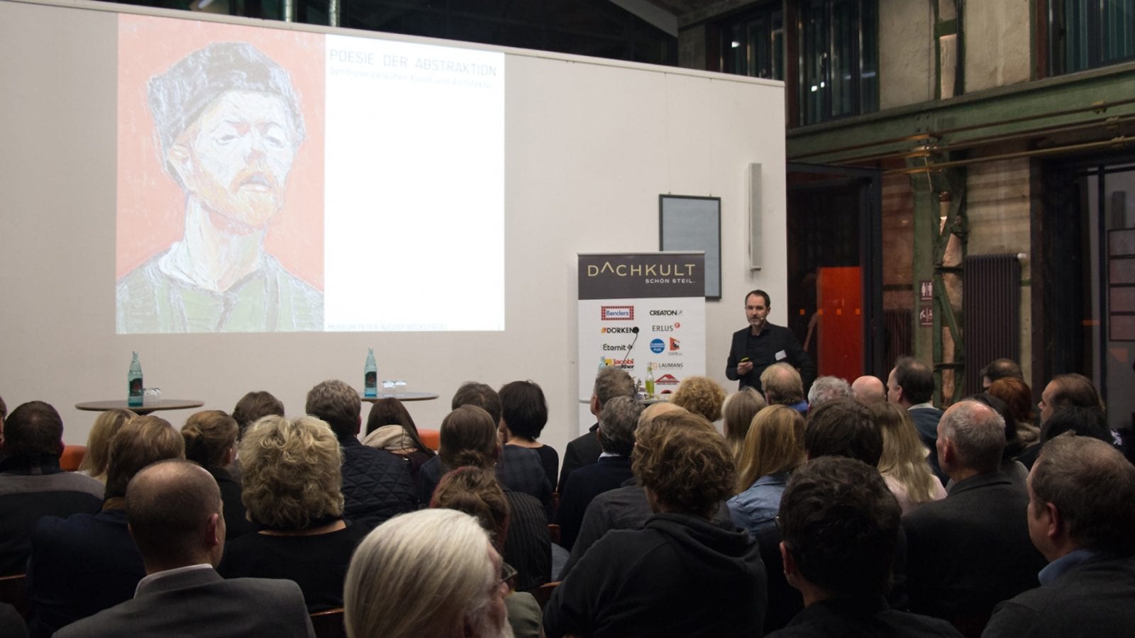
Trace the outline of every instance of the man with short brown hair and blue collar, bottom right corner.
[[1041, 587], [998, 605], [987, 638], [1129, 636], [1135, 628], [1135, 468], [1073, 434], [1044, 445], [1028, 479]]

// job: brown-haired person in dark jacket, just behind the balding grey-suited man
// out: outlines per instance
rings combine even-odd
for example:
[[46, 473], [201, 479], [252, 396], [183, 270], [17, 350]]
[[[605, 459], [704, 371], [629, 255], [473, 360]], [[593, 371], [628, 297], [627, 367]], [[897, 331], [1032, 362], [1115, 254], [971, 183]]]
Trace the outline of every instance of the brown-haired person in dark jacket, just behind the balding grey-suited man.
[[126, 527], [126, 486], [150, 463], [184, 457], [185, 440], [169, 421], [152, 414], [133, 419], [110, 439], [102, 511], [40, 519], [27, 561], [27, 627], [34, 638], [134, 596], [145, 566]]

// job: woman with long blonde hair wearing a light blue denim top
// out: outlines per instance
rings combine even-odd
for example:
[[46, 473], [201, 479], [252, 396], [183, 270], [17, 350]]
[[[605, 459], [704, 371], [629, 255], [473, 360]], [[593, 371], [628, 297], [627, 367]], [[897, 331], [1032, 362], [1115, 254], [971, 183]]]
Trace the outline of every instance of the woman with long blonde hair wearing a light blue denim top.
[[733, 523], [754, 535], [775, 524], [788, 477], [801, 463], [804, 417], [788, 405], [770, 405], [757, 412], [741, 453], [737, 496], [728, 502]]

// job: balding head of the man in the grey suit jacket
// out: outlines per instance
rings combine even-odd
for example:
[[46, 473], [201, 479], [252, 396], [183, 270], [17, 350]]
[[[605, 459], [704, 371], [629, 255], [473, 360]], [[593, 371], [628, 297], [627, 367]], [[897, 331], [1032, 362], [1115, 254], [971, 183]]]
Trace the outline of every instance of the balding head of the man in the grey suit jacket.
[[148, 573], [220, 561], [220, 489], [196, 463], [160, 461], [135, 475], [126, 488], [126, 521]]

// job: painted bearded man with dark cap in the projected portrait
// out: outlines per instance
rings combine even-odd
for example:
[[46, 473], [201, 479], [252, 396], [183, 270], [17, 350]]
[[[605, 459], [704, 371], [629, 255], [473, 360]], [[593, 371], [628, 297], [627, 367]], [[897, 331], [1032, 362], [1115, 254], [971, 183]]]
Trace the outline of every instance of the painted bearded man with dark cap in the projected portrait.
[[321, 330], [322, 293], [263, 247], [304, 137], [288, 73], [213, 43], [152, 77], [149, 101], [184, 235], [118, 280], [118, 331]]

